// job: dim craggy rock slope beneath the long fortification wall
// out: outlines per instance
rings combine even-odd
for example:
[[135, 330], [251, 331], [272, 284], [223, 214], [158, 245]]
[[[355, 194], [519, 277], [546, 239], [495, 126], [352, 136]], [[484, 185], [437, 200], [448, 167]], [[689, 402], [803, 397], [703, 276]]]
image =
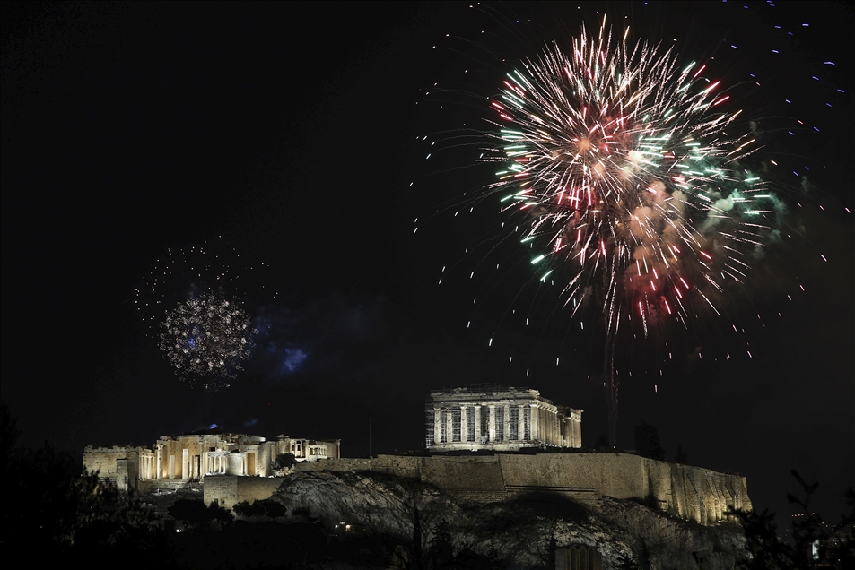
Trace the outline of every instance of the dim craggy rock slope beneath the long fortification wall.
[[538, 491], [472, 504], [417, 479], [317, 471], [286, 477], [271, 498], [292, 521], [330, 530], [345, 523], [387, 540], [406, 566], [422, 565], [443, 548], [446, 556], [469, 553], [508, 568], [554, 568], [556, 552], [579, 547], [598, 551], [601, 563], [592, 568], [729, 570], [746, 557], [736, 526], [702, 526], [611, 497], [596, 510]]

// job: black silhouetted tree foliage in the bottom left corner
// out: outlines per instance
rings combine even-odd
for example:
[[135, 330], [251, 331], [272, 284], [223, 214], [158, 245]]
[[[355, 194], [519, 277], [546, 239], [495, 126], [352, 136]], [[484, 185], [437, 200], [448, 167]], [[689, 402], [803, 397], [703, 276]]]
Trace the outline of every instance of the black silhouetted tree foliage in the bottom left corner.
[[63, 560], [122, 557], [125, 566], [170, 567], [170, 541], [151, 509], [137, 497], [119, 492], [97, 473], [81, 474], [71, 453], [47, 443], [39, 449], [17, 447], [18, 431], [8, 407], [0, 411], [3, 509], [0, 548], [32, 548], [36, 566]]

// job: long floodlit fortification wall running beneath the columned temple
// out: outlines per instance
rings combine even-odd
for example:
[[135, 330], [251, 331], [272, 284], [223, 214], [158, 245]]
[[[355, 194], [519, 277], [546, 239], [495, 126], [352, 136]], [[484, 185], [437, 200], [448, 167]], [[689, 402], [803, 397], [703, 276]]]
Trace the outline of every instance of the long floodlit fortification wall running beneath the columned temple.
[[379, 455], [300, 463], [295, 470], [380, 471], [421, 479], [477, 502], [530, 491], [556, 492], [592, 505], [603, 496], [641, 499], [701, 524], [722, 521], [729, 510], [751, 509], [744, 477], [633, 453]]

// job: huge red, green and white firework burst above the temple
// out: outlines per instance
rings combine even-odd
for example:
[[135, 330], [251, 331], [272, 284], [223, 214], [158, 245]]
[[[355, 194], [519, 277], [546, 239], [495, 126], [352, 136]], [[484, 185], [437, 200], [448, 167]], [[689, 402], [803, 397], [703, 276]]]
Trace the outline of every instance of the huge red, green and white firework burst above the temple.
[[[727, 281], [746, 277], [776, 215], [759, 177], [739, 168], [753, 140], [731, 134], [739, 112], [702, 65], [668, 50], [583, 29], [509, 73], [491, 101], [503, 210], [521, 212], [531, 263], [571, 268], [576, 309], [593, 299], [614, 338], [621, 322], [673, 318], [694, 301], [717, 313]], [[727, 107], [727, 106], [723, 106]]]

